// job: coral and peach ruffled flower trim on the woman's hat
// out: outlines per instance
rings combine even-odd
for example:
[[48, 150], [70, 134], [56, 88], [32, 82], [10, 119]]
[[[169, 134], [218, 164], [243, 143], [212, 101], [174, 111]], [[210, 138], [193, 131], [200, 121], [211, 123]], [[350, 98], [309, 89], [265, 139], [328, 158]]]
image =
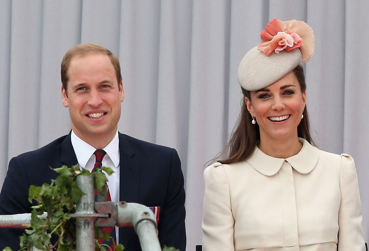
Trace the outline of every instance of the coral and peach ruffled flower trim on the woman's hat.
[[[279, 34], [278, 32], [283, 32], [284, 34]], [[314, 54], [314, 32], [304, 21], [280, 21], [273, 18], [266, 25], [265, 30], [260, 33], [260, 37], [262, 42], [258, 45], [258, 49], [267, 56], [272, 54], [273, 51], [278, 53], [281, 49], [291, 51], [299, 48], [302, 55], [301, 62], [305, 63]], [[288, 42], [290, 38], [294, 41], [292, 46]]]

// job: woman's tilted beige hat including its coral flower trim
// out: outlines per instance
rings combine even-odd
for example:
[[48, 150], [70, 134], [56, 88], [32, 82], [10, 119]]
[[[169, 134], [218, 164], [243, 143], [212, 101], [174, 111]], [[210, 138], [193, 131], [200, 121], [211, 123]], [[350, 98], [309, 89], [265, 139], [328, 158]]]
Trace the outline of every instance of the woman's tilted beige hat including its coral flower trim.
[[303, 21], [273, 18], [260, 37], [262, 42], [246, 53], [238, 67], [238, 81], [248, 91], [271, 85], [314, 54], [313, 29]]

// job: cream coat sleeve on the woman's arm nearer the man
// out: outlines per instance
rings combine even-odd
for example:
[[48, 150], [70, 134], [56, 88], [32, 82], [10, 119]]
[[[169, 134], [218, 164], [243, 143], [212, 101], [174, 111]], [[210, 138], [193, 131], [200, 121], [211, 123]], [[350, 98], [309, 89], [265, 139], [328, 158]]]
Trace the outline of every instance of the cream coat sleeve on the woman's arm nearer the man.
[[203, 251], [234, 250], [230, 187], [223, 165], [208, 166], [204, 180]]

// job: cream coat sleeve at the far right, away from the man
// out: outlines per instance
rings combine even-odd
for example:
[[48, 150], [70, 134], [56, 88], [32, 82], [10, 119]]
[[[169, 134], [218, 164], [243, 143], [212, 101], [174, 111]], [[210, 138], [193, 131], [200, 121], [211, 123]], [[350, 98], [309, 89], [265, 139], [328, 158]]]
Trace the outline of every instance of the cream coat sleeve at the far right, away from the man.
[[354, 159], [348, 154], [341, 154], [339, 189], [338, 251], [365, 251], [358, 177]]

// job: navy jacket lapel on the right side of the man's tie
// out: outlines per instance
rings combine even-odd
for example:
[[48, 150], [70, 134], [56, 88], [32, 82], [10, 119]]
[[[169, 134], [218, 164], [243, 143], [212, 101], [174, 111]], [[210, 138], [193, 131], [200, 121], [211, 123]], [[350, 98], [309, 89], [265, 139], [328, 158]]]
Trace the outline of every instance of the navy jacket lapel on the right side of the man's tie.
[[120, 153], [120, 192], [119, 200], [138, 203], [139, 190], [139, 161], [134, 159], [132, 150], [127, 138], [119, 133], [119, 153]]

